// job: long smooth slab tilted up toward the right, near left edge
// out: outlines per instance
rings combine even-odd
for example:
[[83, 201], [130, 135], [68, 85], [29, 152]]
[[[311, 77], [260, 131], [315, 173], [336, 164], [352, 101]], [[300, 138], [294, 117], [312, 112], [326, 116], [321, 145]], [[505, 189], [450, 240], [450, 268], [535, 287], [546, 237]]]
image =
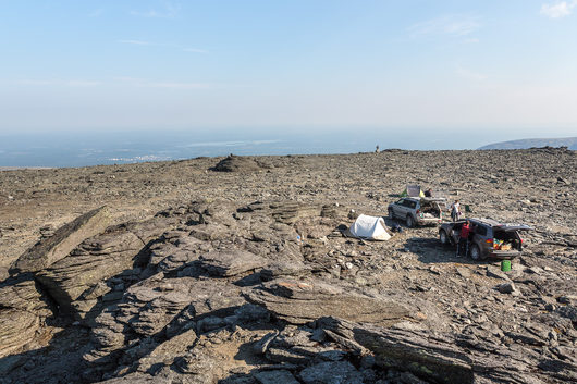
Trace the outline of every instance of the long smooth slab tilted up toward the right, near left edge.
[[107, 207], [87, 212], [58, 228], [54, 234], [38, 241], [12, 265], [12, 274], [38, 272], [65, 258], [88, 237], [102, 233], [110, 225]]

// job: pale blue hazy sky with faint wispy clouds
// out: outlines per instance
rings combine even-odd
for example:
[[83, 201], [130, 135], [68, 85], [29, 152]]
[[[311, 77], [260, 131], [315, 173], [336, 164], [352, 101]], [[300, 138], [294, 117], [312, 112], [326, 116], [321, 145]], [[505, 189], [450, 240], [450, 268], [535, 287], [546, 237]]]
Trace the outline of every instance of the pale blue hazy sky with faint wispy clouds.
[[0, 0], [0, 49], [1, 134], [577, 136], [577, 0]]

